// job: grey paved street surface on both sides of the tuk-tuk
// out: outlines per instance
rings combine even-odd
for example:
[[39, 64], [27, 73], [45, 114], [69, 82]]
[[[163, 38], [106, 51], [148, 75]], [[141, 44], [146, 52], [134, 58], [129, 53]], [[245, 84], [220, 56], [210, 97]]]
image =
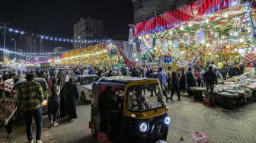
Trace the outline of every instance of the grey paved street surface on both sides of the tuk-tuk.
[[[194, 142], [191, 134], [203, 132], [210, 136], [210, 142], [256, 142], [256, 103], [249, 103], [234, 111], [222, 110], [219, 107], [210, 108], [203, 103], [183, 97], [181, 102], [169, 102], [171, 124], [168, 132], [168, 142]], [[90, 105], [78, 106], [78, 119], [67, 122], [60, 121], [56, 128], [47, 129], [47, 116], [43, 116], [44, 142], [97, 142], [91, 138], [88, 129], [90, 119]], [[35, 129], [34, 129], [35, 131]], [[8, 142], [5, 139], [5, 128], [0, 129], [0, 142]], [[15, 138], [9, 142], [25, 142], [27, 140], [23, 122], [14, 124]]]

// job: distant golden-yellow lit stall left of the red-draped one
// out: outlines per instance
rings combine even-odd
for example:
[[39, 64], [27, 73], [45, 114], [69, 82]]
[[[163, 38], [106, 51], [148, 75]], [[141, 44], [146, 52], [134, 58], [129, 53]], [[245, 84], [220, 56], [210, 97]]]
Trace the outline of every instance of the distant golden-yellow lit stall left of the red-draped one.
[[98, 43], [87, 46], [85, 49], [73, 49], [62, 54], [60, 65], [87, 65], [96, 67], [123, 67], [133, 66], [123, 54], [119, 41], [111, 40], [109, 43]]

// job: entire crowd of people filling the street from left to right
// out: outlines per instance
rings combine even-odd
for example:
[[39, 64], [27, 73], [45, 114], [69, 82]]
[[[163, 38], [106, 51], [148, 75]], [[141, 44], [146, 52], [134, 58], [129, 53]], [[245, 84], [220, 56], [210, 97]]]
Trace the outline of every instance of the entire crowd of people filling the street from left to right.
[[[43, 89], [40, 84], [34, 82], [34, 78], [44, 78], [48, 83], [48, 105], [47, 112], [50, 121], [49, 129], [58, 126], [59, 117], [66, 117], [69, 121], [76, 119], [76, 106], [79, 94], [74, 83], [73, 75], [98, 75], [99, 77], [112, 76], [131, 76], [141, 78], [157, 78], [166, 100], [173, 100], [174, 93], [177, 94], [178, 100], [181, 101], [181, 94], [189, 97], [194, 96], [194, 92], [190, 91], [190, 87], [206, 87], [206, 96], [213, 95], [213, 88], [218, 84], [217, 79], [224, 82], [226, 78], [232, 78], [236, 75], [242, 75], [245, 67], [254, 67], [252, 63], [235, 62], [230, 65], [226, 62], [194, 62], [190, 67], [178, 67], [177, 70], [168, 68], [153, 69], [148, 66], [134, 66], [122, 68], [106, 68], [106, 67], [82, 67], [74, 66], [73, 73], [62, 72], [61, 68], [27, 68], [26, 71], [2, 71], [1, 80], [5, 81], [13, 78], [14, 83], [22, 79], [26, 79], [26, 84], [22, 85], [18, 91], [18, 107], [24, 113], [26, 121], [28, 142], [33, 142], [32, 134], [32, 118], [34, 117], [37, 124], [37, 142], [40, 140], [42, 129], [42, 103]], [[73, 75], [72, 75], [73, 74]], [[210, 90], [210, 93], [208, 91]], [[152, 90], [152, 96], [153, 96]], [[155, 91], [156, 92], [156, 91]], [[168, 95], [169, 94], [169, 95]], [[9, 96], [6, 92], [1, 95]], [[8, 138], [12, 137], [11, 122], [5, 126], [8, 132]]]

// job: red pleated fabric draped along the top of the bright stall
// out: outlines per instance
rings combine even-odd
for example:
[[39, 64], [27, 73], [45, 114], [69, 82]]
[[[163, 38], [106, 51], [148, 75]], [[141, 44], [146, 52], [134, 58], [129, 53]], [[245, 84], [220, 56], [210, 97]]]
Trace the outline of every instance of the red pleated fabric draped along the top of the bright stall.
[[[216, 5], [219, 6], [218, 11], [229, 8], [229, 0], [194, 1], [182, 8], [167, 11], [164, 14], [153, 17], [147, 21], [140, 21], [134, 26], [134, 35], [137, 36], [139, 34], [151, 33], [152, 30], [156, 30], [156, 27], [170, 29], [174, 27], [174, 24], [178, 24], [179, 21], [187, 22], [191, 19], [200, 19], [206, 11], [209, 11], [210, 8], [214, 8]], [[192, 11], [194, 11], [193, 9], [197, 10], [197, 15], [191, 14]]]

